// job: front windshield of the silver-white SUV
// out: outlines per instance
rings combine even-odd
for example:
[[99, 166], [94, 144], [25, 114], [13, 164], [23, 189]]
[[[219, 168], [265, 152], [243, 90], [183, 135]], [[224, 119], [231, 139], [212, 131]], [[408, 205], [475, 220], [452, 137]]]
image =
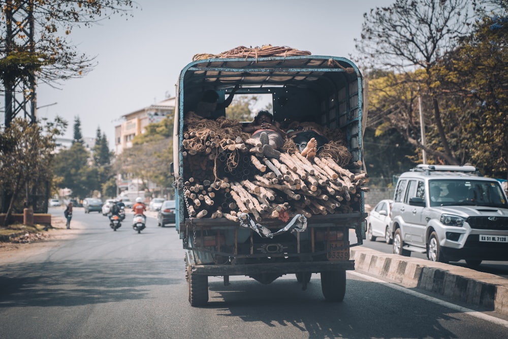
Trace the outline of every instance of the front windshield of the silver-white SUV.
[[429, 180], [430, 205], [481, 205], [507, 208], [500, 185], [485, 180]]

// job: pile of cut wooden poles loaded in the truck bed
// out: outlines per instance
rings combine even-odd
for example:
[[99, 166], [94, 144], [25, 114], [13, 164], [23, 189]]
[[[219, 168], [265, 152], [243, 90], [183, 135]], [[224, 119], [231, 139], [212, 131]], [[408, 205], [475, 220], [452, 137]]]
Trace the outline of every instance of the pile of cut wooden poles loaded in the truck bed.
[[[281, 152], [279, 159], [263, 155], [259, 139], [241, 132], [236, 121], [186, 120], [181, 145], [184, 196], [192, 218], [238, 221], [250, 213], [258, 222], [287, 221], [301, 213], [348, 213], [359, 210], [366, 173], [337, 165], [330, 158], [311, 161], [299, 152]], [[238, 125], [238, 128], [231, 126]]]

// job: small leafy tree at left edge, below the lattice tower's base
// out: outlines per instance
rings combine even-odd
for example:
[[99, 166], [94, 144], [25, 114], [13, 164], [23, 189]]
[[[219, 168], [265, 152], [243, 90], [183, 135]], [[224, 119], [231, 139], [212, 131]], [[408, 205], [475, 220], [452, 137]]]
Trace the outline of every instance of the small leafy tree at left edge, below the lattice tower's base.
[[[2, 221], [4, 226], [16, 206], [32, 205], [28, 198], [29, 188], [51, 181], [54, 138], [61, 135], [66, 127], [67, 123], [58, 117], [53, 122], [46, 121], [45, 125], [14, 118], [11, 125], [0, 133], [0, 187], [6, 191], [5, 196], [10, 197], [6, 217]], [[24, 197], [21, 196], [23, 191]], [[21, 204], [21, 201], [24, 203]]]

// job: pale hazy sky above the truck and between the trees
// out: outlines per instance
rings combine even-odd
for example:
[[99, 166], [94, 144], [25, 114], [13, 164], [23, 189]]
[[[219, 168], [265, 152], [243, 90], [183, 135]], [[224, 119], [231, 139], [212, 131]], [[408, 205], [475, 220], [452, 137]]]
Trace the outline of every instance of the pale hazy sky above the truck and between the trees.
[[114, 148], [121, 116], [175, 96], [180, 71], [195, 54], [238, 46], [288, 46], [315, 55], [354, 58], [363, 14], [395, 0], [139, 0], [132, 17], [113, 16], [90, 28], [74, 28], [79, 52], [97, 66], [58, 88], [37, 88], [38, 118], [76, 116], [83, 137], [98, 128]]

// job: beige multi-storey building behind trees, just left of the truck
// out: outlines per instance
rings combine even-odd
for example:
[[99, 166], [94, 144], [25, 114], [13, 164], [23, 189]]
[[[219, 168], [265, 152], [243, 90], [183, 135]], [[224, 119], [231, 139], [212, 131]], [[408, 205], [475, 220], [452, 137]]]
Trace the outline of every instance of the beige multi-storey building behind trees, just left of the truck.
[[159, 103], [122, 115], [123, 122], [115, 126], [115, 153], [132, 147], [132, 139], [145, 132], [149, 124], [161, 121], [175, 111], [175, 98], [167, 98]]

